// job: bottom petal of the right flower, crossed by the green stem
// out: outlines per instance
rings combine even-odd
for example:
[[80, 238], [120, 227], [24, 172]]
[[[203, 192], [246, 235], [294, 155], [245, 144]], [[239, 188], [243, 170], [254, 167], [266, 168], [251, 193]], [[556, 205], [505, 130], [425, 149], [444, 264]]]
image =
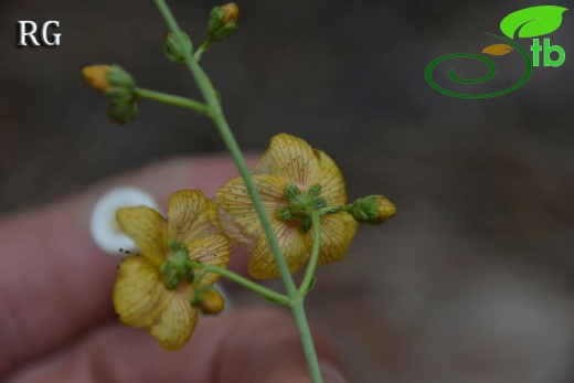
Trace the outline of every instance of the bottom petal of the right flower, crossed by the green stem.
[[[279, 242], [289, 272], [297, 272], [309, 258], [309, 236], [299, 228], [299, 221], [281, 222], [272, 220], [273, 230]], [[249, 257], [249, 274], [257, 279], [276, 278], [279, 269], [273, 257], [265, 233], [259, 234], [258, 243]]]

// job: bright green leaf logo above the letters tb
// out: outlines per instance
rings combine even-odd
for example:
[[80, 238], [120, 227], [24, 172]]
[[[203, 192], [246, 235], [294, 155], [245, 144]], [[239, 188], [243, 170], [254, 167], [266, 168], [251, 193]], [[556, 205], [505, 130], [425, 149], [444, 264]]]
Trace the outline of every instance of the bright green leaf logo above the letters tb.
[[554, 32], [562, 24], [562, 13], [567, 8], [557, 6], [538, 6], [524, 8], [507, 15], [500, 22], [500, 30], [510, 39], [514, 32], [519, 38], [536, 38]]

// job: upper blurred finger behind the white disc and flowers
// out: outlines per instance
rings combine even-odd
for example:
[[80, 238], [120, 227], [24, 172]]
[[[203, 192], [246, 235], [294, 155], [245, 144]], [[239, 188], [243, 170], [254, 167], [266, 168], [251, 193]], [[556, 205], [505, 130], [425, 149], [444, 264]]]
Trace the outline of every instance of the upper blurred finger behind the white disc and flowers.
[[99, 195], [111, 185], [129, 184], [166, 205], [178, 189], [202, 189], [210, 196], [233, 177], [236, 170], [228, 157], [170, 160], [116, 177], [54, 205], [3, 219], [0, 377], [20, 361], [59, 347], [114, 315], [116, 262], [94, 245], [88, 228]]

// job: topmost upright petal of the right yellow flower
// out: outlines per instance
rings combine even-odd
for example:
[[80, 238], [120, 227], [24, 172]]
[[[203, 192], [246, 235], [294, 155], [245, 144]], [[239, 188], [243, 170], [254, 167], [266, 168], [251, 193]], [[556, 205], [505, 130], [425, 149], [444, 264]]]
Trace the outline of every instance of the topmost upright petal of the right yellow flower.
[[319, 167], [312, 148], [304, 139], [279, 134], [253, 169], [254, 174], [275, 174], [307, 191], [317, 183]]

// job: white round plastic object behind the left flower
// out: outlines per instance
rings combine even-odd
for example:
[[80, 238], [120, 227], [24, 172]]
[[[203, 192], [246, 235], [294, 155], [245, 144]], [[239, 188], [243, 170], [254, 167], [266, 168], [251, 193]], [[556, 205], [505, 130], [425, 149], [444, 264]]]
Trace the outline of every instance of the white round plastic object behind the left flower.
[[[116, 222], [119, 208], [145, 205], [159, 211], [153, 196], [134, 187], [117, 187], [99, 198], [92, 210], [89, 230], [96, 245], [113, 257], [125, 257], [126, 252], [139, 249], [130, 237], [125, 235]], [[121, 249], [121, 251], [120, 251]]]

